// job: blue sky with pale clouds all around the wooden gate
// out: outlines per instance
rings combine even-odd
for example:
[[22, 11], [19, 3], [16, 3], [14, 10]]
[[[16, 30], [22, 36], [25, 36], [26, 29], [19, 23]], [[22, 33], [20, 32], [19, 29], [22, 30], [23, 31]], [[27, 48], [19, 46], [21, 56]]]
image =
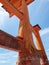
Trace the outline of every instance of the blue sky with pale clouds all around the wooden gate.
[[[35, 0], [28, 6], [30, 22], [41, 27], [40, 36], [49, 59], [49, 0]], [[0, 6], [0, 29], [17, 36], [19, 19], [9, 18], [9, 14]], [[15, 65], [18, 53], [0, 48], [0, 65]]]

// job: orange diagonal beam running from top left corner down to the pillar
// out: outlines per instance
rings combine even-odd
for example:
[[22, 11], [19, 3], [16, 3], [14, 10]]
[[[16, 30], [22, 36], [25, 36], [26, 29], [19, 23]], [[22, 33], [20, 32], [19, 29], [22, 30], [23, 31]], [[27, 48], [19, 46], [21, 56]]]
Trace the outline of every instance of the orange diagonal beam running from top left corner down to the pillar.
[[3, 7], [5, 8], [5, 10], [7, 10], [9, 13], [13, 13], [19, 19], [23, 19], [23, 13], [21, 13], [19, 10], [17, 10], [12, 4], [10, 4], [9, 1], [0, 0], [0, 2], [3, 4]]

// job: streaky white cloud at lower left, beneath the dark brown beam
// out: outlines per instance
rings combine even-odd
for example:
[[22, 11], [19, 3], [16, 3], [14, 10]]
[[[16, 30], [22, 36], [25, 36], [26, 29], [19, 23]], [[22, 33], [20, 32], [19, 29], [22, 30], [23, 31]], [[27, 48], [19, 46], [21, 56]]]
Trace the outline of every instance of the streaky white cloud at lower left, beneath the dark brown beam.
[[[0, 53], [0, 64], [1, 63], [11, 63], [11, 61], [13, 61], [12, 59], [14, 59], [14, 61], [13, 62], [16, 62], [16, 60], [17, 60], [17, 54], [18, 53], [16, 53], [16, 52], [12, 52], [12, 51], [10, 51], [10, 52], [7, 52], [7, 53]], [[16, 60], [15, 60], [16, 59]]]

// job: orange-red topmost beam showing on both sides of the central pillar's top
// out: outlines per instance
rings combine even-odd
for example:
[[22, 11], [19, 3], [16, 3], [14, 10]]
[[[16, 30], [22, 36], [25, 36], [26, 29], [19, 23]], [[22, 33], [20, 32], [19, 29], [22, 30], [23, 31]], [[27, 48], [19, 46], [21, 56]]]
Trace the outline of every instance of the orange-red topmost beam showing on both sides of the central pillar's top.
[[[29, 5], [32, 3], [34, 0], [25, 0], [26, 4]], [[22, 6], [22, 0], [10, 0], [9, 1], [12, 5], [14, 5], [17, 9], [21, 10]]]

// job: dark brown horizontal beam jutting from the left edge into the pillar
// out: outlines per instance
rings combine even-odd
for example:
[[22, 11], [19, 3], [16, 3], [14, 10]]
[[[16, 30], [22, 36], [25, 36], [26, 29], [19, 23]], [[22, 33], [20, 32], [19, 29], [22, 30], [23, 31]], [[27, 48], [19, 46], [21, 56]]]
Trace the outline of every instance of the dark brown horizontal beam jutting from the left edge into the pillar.
[[0, 47], [13, 51], [20, 51], [22, 50], [23, 45], [21, 39], [16, 39], [0, 30]]

